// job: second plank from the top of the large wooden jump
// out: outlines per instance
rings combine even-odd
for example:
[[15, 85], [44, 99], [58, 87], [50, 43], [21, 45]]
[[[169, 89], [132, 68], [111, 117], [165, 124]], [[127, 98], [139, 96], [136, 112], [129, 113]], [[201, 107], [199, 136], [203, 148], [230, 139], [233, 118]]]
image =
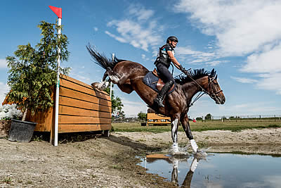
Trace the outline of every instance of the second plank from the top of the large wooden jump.
[[77, 92], [75, 90], [72, 89], [68, 89], [66, 87], [60, 87], [60, 96], [68, 96], [74, 99], [80, 99], [83, 101], [89, 101], [92, 103], [96, 103], [96, 104], [101, 104], [104, 106], [110, 106], [111, 102], [107, 101], [105, 99], [99, 99], [96, 96], [90, 95], [90, 94], [84, 94], [81, 92]]

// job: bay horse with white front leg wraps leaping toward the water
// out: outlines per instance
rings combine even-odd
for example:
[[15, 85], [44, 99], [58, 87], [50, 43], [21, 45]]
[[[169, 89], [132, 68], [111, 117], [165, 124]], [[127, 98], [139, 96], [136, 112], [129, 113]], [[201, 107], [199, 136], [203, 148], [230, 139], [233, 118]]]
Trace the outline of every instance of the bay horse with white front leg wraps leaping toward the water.
[[[143, 77], [150, 71], [140, 63], [121, 60], [118, 58], [109, 59], [101, 55], [93, 47], [86, 46], [93, 61], [105, 69], [103, 75], [103, 82], [101, 84], [93, 83], [93, 87], [103, 87], [106, 79], [114, 84], [117, 84], [122, 92], [130, 94], [133, 91], [141, 96], [148, 106], [154, 106], [154, 99], [157, 92], [144, 84]], [[186, 136], [190, 140], [192, 151], [197, 152], [198, 146], [193, 139], [188, 122], [188, 111], [192, 101], [192, 97], [197, 92], [204, 92], [208, 94], [211, 99], [216, 101], [216, 104], [224, 104], [226, 101], [223, 95], [223, 90], [218, 84], [216, 71], [214, 69], [211, 73], [204, 69], [188, 71], [188, 75], [181, 75], [176, 80], [176, 88], [174, 92], [166, 95], [163, 103], [164, 107], [153, 108], [157, 113], [171, 118], [171, 138], [173, 140], [173, 151], [178, 152], [178, 124], [181, 122]], [[108, 82], [107, 82], [108, 83]], [[204, 94], [203, 93], [203, 94]], [[198, 150], [199, 152], [199, 150]]]

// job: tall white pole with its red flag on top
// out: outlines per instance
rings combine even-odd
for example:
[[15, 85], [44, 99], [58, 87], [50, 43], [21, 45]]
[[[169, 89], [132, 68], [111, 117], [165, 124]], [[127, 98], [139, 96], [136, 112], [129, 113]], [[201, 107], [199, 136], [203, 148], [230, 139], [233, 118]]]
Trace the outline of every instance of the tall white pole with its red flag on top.
[[[62, 8], [57, 8], [55, 6], [48, 6], [51, 10], [58, 15], [58, 39], [61, 35], [61, 18], [62, 18]], [[58, 64], [57, 64], [57, 84], [55, 88], [55, 139], [54, 146], [58, 146], [58, 99], [60, 96], [60, 46], [58, 46]]]

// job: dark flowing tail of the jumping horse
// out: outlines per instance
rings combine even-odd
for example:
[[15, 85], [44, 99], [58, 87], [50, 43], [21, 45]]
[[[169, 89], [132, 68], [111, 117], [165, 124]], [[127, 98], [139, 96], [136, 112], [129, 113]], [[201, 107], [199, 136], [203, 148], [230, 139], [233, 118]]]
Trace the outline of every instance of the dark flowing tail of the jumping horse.
[[114, 58], [113, 60], [111, 60], [110, 58], [106, 58], [104, 55], [101, 55], [100, 53], [98, 53], [98, 51], [96, 51], [96, 49], [94, 47], [92, 47], [90, 44], [88, 44], [88, 46], [86, 46], [86, 48], [88, 49], [89, 53], [91, 54], [91, 56], [93, 58], [93, 62], [97, 63], [105, 70], [112, 70], [117, 63], [124, 61], [119, 58]]

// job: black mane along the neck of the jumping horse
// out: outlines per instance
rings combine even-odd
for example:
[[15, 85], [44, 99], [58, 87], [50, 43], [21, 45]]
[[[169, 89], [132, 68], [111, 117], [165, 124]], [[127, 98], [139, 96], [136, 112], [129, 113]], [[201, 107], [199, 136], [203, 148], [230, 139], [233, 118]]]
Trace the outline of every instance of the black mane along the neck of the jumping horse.
[[[201, 69], [195, 69], [195, 70], [189, 70], [188, 71], [190, 77], [192, 77], [193, 80], [197, 80], [201, 77], [204, 76], [209, 76], [210, 72], [207, 70], [204, 70], [204, 68]], [[192, 79], [190, 78], [188, 75], [178, 75], [177, 77], [175, 77], [175, 81], [178, 84], [185, 84], [186, 82], [191, 82]]]

